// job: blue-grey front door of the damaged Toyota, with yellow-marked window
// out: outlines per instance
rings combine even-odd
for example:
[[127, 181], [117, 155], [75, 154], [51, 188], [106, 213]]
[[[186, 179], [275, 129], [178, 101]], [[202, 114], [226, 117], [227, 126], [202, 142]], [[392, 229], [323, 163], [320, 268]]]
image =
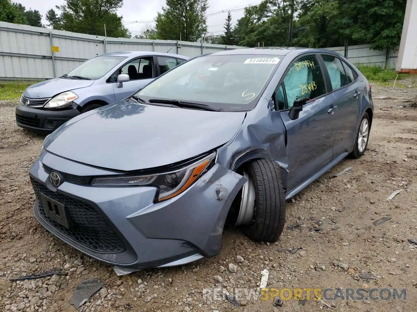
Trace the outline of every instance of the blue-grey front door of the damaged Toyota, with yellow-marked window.
[[[288, 109], [297, 97], [309, 100], [299, 117], [291, 120]], [[287, 187], [291, 190], [333, 159], [337, 125], [332, 114], [334, 96], [327, 94], [322, 68], [314, 54], [303, 56], [291, 65], [276, 92], [276, 99], [278, 106], [286, 108], [281, 111], [281, 119], [287, 133]]]

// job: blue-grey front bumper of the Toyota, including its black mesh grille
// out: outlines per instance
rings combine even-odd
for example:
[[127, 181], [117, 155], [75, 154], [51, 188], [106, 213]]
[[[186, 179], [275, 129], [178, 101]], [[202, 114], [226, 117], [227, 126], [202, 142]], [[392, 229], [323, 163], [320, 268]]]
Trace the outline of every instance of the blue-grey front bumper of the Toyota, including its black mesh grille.
[[[48, 172], [62, 174], [55, 188]], [[114, 172], [74, 163], [46, 151], [30, 170], [35, 217], [55, 236], [111, 265], [146, 268], [181, 265], [221, 251], [227, 213], [246, 179], [219, 164], [182, 194], [154, 203], [156, 188], [93, 187], [92, 176]], [[84, 184], [77, 184], [84, 183]], [[65, 205], [73, 226], [48, 218], [40, 194]]]

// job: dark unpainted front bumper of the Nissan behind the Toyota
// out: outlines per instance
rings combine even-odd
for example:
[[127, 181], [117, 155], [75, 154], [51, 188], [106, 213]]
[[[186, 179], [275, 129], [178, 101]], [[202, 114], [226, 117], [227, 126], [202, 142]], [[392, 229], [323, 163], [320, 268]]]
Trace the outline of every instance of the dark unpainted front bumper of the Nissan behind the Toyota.
[[16, 107], [16, 124], [21, 128], [35, 132], [52, 132], [71, 118], [78, 116], [78, 109], [39, 109], [25, 107], [19, 104]]

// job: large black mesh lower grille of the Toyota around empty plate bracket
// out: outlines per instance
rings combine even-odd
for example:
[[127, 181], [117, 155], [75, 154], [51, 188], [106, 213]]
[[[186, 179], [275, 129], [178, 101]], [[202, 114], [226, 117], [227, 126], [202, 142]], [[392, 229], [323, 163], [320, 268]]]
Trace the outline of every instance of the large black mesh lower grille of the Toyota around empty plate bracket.
[[[52, 225], [61, 235], [83, 245], [85, 248], [98, 253], [120, 253], [126, 250], [122, 240], [111, 229], [106, 220], [95, 207], [79, 198], [69, 196], [59, 191], [50, 191], [43, 183], [30, 177], [33, 190], [38, 198], [38, 211], [43, 220]], [[55, 201], [65, 205], [68, 218], [73, 221], [69, 229], [45, 215], [40, 194], [43, 193]]]

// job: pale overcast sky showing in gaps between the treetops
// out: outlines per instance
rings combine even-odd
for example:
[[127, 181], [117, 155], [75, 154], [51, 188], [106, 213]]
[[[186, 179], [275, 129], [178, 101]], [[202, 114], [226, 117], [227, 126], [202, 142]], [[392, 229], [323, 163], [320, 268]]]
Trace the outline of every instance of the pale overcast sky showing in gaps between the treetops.
[[[38, 10], [43, 15], [42, 23], [47, 24], [45, 20], [46, 12], [55, 5], [62, 5], [64, 0], [14, 0], [20, 2], [26, 7], [26, 10]], [[233, 25], [244, 14], [244, 7], [248, 5], [259, 4], [260, 0], [208, 0], [209, 8], [207, 10], [207, 35], [221, 35], [224, 31], [223, 24], [227, 17], [227, 11], [231, 10]], [[139, 35], [144, 25], [151, 24], [158, 11], [161, 12], [162, 6], [165, 6], [165, 0], [124, 0], [123, 7], [118, 10], [118, 15], [123, 16], [123, 24], [132, 32], [132, 35]], [[224, 10], [224, 12], [221, 12]], [[135, 22], [138, 21], [138, 22]], [[147, 23], [150, 21], [149, 23]]]

